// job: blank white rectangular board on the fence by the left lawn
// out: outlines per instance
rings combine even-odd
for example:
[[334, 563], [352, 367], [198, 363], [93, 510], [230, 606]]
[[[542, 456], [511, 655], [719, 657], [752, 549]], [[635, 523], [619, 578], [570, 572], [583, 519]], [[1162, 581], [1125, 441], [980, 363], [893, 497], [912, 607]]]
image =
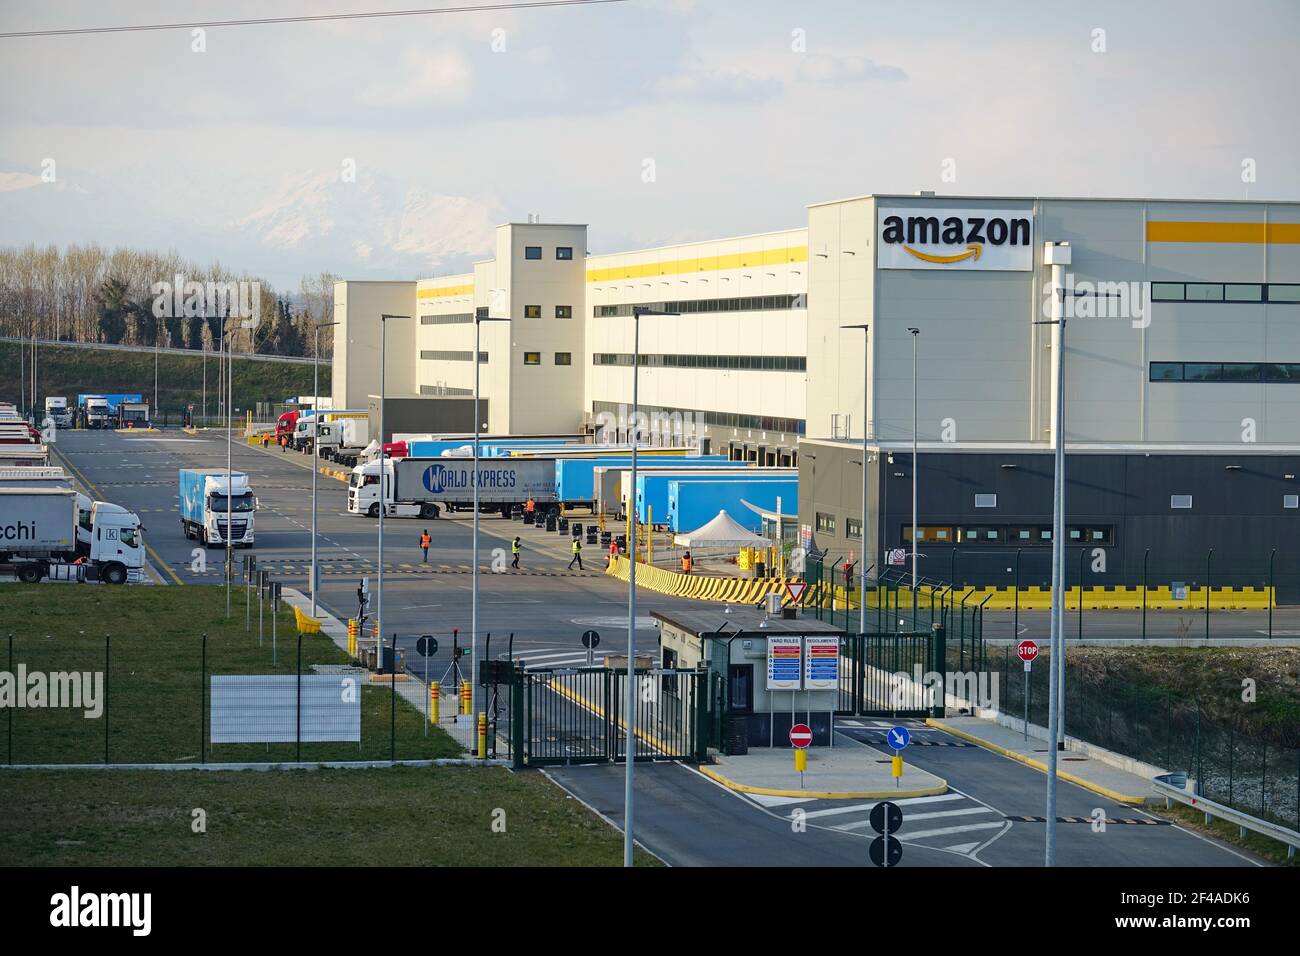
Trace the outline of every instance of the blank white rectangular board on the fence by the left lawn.
[[[294, 675], [212, 676], [212, 743], [291, 744], [299, 728]], [[347, 674], [302, 676], [302, 740], [361, 740], [361, 679]]]

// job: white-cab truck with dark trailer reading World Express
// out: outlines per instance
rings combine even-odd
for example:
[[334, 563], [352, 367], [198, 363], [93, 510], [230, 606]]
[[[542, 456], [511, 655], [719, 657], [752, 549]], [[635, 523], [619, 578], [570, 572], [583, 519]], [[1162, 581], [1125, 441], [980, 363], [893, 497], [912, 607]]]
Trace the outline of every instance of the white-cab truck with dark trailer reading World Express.
[[[380, 514], [378, 459], [352, 468], [347, 483], [347, 510], [354, 515]], [[443, 511], [473, 507], [474, 459], [400, 458], [382, 462], [385, 515], [433, 519]], [[554, 505], [555, 462], [533, 458], [478, 459], [478, 510], [508, 515], [515, 505], [532, 498]]]

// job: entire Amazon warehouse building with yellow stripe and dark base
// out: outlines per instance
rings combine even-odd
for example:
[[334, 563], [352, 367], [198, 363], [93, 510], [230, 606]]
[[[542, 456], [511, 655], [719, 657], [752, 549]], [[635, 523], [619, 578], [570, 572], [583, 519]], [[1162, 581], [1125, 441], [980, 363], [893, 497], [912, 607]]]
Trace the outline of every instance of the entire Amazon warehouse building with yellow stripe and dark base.
[[[640, 402], [668, 423], [660, 442], [797, 464], [802, 544], [898, 567], [915, 414], [919, 572], [1040, 584], [1053, 269], [1067, 544], [1088, 551], [1071, 583], [1195, 587], [1208, 568], [1254, 585], [1273, 549], [1295, 566], [1296, 203], [867, 195], [809, 207], [801, 229], [608, 255], [586, 254], [584, 225], [507, 224], [473, 272], [341, 282], [333, 398], [376, 394], [389, 312], [412, 319], [387, 323], [387, 394], [450, 408], [437, 399], [472, 394], [488, 310], [510, 321], [482, 325], [485, 431], [624, 440], [632, 310], [676, 313], [640, 323]], [[1300, 593], [1287, 574], [1278, 587]]]

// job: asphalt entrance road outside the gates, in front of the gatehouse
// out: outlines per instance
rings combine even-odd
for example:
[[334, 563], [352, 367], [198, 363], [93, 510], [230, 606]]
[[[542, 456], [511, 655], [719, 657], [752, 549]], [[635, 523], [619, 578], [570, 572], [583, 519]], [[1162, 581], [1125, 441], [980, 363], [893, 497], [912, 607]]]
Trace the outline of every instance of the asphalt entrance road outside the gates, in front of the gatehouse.
[[[946, 779], [948, 793], [900, 800], [901, 866], [1041, 866], [1046, 777], [919, 721], [907, 763]], [[884, 749], [885, 722], [837, 721], [841, 734]], [[623, 767], [547, 771], [560, 786], [623, 823]], [[867, 866], [874, 800], [805, 800], [728, 791], [677, 763], [637, 767], [636, 834], [672, 865]], [[905, 777], [906, 779], [906, 771]], [[1061, 782], [1060, 866], [1253, 866], [1225, 844]], [[1101, 809], [1104, 830], [1093, 830]]]

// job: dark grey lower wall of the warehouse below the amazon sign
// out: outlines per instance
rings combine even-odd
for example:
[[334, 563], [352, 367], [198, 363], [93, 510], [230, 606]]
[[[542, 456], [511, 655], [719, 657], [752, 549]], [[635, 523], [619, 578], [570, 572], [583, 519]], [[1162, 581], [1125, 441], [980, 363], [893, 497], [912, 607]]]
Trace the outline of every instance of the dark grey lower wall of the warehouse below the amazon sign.
[[[858, 459], [859, 449], [811, 444], [800, 457], [800, 524], [812, 529], [814, 546], [835, 561], [859, 550], [845, 535], [845, 518], [861, 511]], [[893, 459], [892, 466], [868, 466], [875, 484], [868, 531], [876, 542], [868, 564], [887, 549], [910, 549], [904, 528], [911, 524], [911, 455], [896, 451]], [[922, 453], [919, 524], [950, 527], [954, 538], [958, 529], [998, 533], [956, 544], [923, 540], [922, 575], [967, 587], [1011, 585], [1019, 550], [1020, 584], [1049, 584], [1050, 542], [1020, 544], [1010, 532], [1050, 527], [1052, 472], [1050, 450]], [[1110, 529], [1110, 540], [1067, 538], [1066, 580], [1079, 583], [1083, 554], [1088, 587], [1140, 585], [1144, 561], [1150, 587], [1200, 585], [1213, 549], [1213, 587], [1262, 587], [1277, 549], [1279, 601], [1300, 602], [1300, 510], [1283, 507], [1284, 496], [1300, 494], [1300, 480], [1287, 475], [1300, 476], [1300, 455], [1067, 455], [1066, 525]], [[975, 507], [976, 494], [996, 494], [997, 506]], [[1174, 494], [1192, 496], [1192, 507], [1171, 509]], [[818, 511], [836, 515], [835, 535], [816, 532]]]

